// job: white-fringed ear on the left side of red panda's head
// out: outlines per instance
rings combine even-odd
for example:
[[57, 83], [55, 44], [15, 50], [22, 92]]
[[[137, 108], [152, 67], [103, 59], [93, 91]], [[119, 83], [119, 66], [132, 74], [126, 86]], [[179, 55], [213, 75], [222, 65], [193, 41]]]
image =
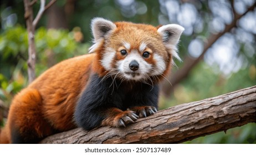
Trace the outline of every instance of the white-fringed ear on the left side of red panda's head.
[[104, 18], [94, 18], [91, 20], [91, 30], [93, 31], [94, 42], [104, 38], [111, 30], [116, 29], [116, 25]]

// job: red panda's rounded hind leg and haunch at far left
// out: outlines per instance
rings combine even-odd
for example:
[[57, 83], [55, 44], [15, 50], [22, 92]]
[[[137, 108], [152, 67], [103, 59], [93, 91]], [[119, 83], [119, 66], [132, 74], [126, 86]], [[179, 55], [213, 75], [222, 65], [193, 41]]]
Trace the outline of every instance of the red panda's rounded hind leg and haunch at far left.
[[52, 132], [42, 113], [42, 96], [26, 88], [17, 94], [9, 108], [0, 143], [36, 143]]

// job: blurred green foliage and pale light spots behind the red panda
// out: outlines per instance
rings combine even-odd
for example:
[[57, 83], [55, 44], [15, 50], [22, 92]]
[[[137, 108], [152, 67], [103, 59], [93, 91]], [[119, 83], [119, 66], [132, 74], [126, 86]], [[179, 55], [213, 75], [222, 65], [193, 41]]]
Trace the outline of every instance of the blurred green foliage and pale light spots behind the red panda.
[[[39, 6], [40, 1], [37, 1], [34, 14]], [[254, 7], [247, 11], [250, 6]], [[186, 76], [173, 87], [169, 84], [172, 91], [163, 91], [161, 109], [253, 86], [256, 84], [254, 8], [255, 0], [58, 0], [44, 13], [36, 30], [36, 75], [59, 61], [86, 54], [92, 39], [90, 20], [103, 17], [155, 26], [177, 23], [185, 27], [179, 44], [183, 61], [176, 61], [172, 75], [175, 76], [187, 61], [198, 60], [198, 63], [186, 70]], [[242, 18], [225, 32], [226, 25], [231, 24], [237, 14], [243, 14]], [[5, 107], [0, 110], [0, 122], [3, 125], [6, 119], [2, 117], [6, 118], [13, 96], [28, 85], [28, 35], [23, 1], [2, 0], [0, 17], [0, 106]], [[207, 39], [223, 31], [203, 53]], [[256, 143], [256, 124], [249, 123], [186, 143]]]

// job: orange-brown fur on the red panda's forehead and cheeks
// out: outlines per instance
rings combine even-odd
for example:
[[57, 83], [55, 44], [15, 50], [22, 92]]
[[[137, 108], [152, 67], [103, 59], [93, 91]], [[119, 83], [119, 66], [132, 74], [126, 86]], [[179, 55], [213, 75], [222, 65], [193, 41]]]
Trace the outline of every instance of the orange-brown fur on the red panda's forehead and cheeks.
[[[149, 40], [150, 38], [150, 44], [149, 46], [150, 50], [155, 51], [157, 54], [160, 54], [163, 58], [165, 58], [165, 62], [167, 63], [165, 73], [164, 75], [168, 74], [168, 71], [170, 70], [170, 60], [172, 59], [172, 55], [162, 52], [167, 51], [166, 47], [162, 44], [162, 38], [160, 34], [157, 33], [157, 28], [153, 27], [152, 25], [146, 25], [146, 24], [134, 24], [129, 22], [116, 22], [117, 29], [115, 32], [111, 35], [110, 41], [108, 44], [110, 44], [111, 48], [113, 49], [120, 49], [120, 47], [123, 45], [122, 40], [129, 40], [129, 43], [131, 44], [131, 49], [139, 49], [139, 46], [142, 42], [145, 42], [146, 40]], [[146, 32], [146, 33], [145, 33]], [[127, 35], [130, 34], [130, 35]], [[131, 38], [131, 36], [136, 36], [136, 39]], [[93, 63], [93, 70], [98, 73], [100, 76], [104, 76], [107, 74], [106, 70], [103, 68], [103, 66], [100, 64], [99, 60], [102, 59], [103, 51], [105, 49], [104, 43], [100, 45], [100, 48], [98, 48], [95, 53], [97, 53], [97, 60]], [[146, 50], [145, 50], [146, 51]], [[122, 56], [120, 53], [118, 53], [119, 57], [118, 60], [122, 59]], [[151, 56], [152, 58], [152, 56]], [[153, 59], [146, 59], [147, 62], [150, 64], [154, 64], [155, 61]], [[162, 79], [163, 76], [158, 76], [158, 79]]]

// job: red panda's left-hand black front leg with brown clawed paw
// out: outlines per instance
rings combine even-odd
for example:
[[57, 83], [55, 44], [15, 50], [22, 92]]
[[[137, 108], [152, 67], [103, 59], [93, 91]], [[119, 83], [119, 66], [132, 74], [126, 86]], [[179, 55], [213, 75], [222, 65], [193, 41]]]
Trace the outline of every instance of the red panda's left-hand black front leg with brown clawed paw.
[[[85, 130], [95, 127], [112, 126], [121, 127], [134, 122], [139, 118], [134, 111], [122, 111], [122, 99], [113, 96], [110, 89], [112, 79], [103, 80], [98, 75], [91, 75], [86, 89], [81, 94], [74, 113], [76, 125]], [[118, 106], [118, 104], [120, 104]]]

